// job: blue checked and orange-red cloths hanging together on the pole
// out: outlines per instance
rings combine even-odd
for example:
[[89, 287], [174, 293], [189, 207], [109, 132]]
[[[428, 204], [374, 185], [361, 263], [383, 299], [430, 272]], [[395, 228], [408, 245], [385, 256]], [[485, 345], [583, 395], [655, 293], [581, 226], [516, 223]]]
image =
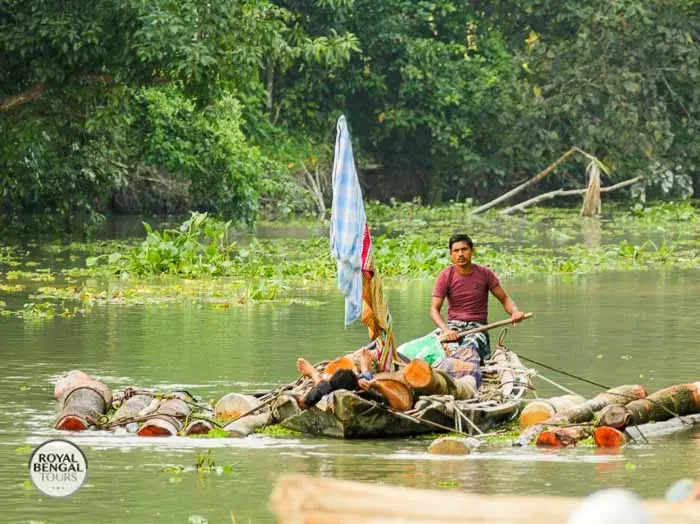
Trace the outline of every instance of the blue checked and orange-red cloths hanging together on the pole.
[[390, 370], [395, 350], [391, 315], [375, 266], [372, 237], [344, 116], [338, 119], [335, 140], [330, 239], [331, 254], [338, 265], [338, 288], [345, 296], [345, 326], [361, 319], [370, 340], [382, 342], [380, 367]]

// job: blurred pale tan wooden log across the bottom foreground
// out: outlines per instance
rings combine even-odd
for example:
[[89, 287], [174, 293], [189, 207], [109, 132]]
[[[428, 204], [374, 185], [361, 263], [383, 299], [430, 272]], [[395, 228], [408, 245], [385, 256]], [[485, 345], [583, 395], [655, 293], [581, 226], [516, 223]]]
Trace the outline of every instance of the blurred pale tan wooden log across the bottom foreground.
[[[566, 522], [582, 499], [474, 495], [282, 475], [271, 495], [279, 524]], [[700, 523], [700, 505], [645, 501], [659, 524]]]

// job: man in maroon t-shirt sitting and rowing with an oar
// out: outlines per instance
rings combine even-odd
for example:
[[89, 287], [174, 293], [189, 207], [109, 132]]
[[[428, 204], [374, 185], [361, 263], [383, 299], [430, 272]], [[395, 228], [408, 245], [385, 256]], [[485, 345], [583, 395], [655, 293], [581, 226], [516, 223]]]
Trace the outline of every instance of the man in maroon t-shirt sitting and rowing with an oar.
[[[501, 287], [496, 274], [486, 266], [472, 263], [474, 243], [467, 235], [455, 234], [449, 241], [453, 265], [440, 272], [433, 289], [430, 318], [445, 335], [448, 357], [435, 367], [455, 378], [471, 375], [481, 385], [480, 361], [491, 355], [487, 333], [461, 337], [460, 333], [488, 322], [489, 292], [495, 296], [513, 320], [520, 322], [524, 314]], [[447, 322], [442, 318], [442, 304], [447, 298]], [[459, 341], [459, 342], [458, 342]]]

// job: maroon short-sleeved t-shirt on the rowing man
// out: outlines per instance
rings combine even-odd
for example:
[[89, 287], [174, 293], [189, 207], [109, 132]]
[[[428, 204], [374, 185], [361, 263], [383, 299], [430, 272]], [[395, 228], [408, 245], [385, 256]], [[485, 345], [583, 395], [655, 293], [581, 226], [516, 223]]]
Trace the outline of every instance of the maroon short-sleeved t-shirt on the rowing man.
[[462, 275], [455, 266], [438, 275], [433, 296], [447, 298], [447, 320], [487, 322], [489, 291], [499, 284], [496, 273], [486, 266], [472, 264], [472, 271]]

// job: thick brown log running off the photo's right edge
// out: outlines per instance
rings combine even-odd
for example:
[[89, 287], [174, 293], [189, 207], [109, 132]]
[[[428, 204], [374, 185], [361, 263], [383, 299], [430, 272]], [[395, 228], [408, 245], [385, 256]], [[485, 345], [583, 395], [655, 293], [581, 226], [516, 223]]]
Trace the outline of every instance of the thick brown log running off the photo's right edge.
[[675, 415], [700, 413], [700, 382], [679, 384], [661, 389], [645, 399], [625, 404], [630, 424], [646, 424], [673, 418]]

